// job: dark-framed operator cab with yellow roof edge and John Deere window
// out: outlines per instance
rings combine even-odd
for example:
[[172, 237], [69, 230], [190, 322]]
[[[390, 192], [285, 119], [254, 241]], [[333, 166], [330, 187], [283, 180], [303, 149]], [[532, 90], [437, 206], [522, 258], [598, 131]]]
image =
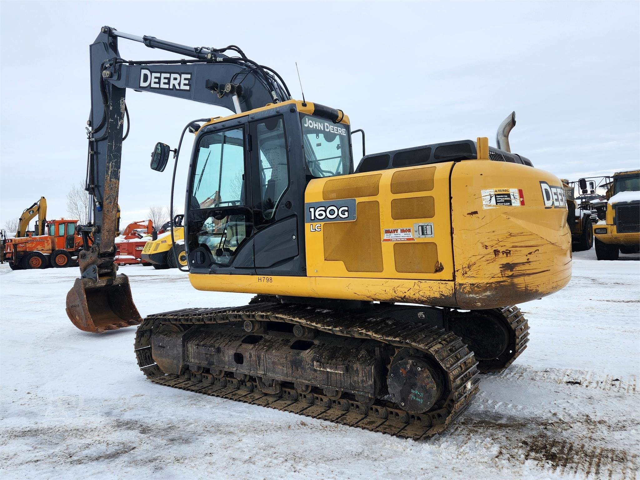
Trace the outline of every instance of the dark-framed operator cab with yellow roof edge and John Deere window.
[[[162, 166], [169, 149], [159, 145], [152, 164]], [[191, 273], [306, 275], [306, 186], [349, 173], [339, 110], [291, 100], [202, 125], [186, 197]]]

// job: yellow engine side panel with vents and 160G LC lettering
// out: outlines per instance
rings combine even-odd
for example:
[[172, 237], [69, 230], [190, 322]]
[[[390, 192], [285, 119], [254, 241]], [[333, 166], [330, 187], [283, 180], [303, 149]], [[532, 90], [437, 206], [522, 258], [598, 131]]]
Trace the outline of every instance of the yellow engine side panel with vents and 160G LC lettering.
[[[453, 280], [452, 165], [309, 182], [305, 192], [307, 275]], [[340, 208], [349, 200], [355, 200], [355, 211], [346, 216]]]

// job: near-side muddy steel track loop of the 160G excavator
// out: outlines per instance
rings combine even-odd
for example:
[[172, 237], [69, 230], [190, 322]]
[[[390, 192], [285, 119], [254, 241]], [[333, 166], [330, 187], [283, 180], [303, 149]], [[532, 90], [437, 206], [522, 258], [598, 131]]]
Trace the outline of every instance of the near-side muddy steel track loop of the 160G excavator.
[[[374, 404], [367, 407], [353, 399], [331, 400], [316, 391], [305, 395], [289, 388], [283, 388], [280, 396], [274, 396], [261, 392], [253, 380], [239, 381], [229, 376], [220, 379], [211, 374], [193, 374], [189, 371], [181, 376], [164, 374], [152, 358], [151, 333], [154, 326], [220, 324], [245, 320], [302, 324], [321, 332], [378, 340], [396, 348], [417, 349], [437, 362], [445, 372], [447, 394], [444, 402], [436, 404], [434, 410], [412, 415], [396, 404], [381, 399], [376, 399]], [[375, 316], [371, 312], [344, 320], [337, 312], [268, 301], [235, 308], [185, 308], [146, 317], [136, 333], [135, 351], [141, 371], [149, 380], [160, 385], [415, 440], [444, 431], [467, 409], [479, 389], [476, 359], [460, 337], [427, 324], [407, 323]]]

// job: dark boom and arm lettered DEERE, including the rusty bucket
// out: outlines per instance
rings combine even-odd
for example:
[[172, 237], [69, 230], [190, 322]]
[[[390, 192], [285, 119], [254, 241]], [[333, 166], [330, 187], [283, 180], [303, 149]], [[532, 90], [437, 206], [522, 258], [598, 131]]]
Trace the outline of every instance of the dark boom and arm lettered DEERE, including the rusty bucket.
[[[125, 60], [118, 52], [119, 38], [185, 58]], [[234, 56], [225, 52], [234, 52]], [[141, 320], [129, 280], [124, 274], [116, 275], [113, 261], [122, 141], [129, 131], [127, 88], [221, 106], [236, 113], [289, 100], [291, 95], [275, 70], [248, 59], [236, 45], [223, 49], [188, 47], [107, 26], [90, 46], [90, 68], [86, 191], [93, 208], [88, 224], [80, 227], [84, 238], [84, 250], [78, 255], [81, 278], [67, 294], [67, 315], [81, 330], [101, 333]]]

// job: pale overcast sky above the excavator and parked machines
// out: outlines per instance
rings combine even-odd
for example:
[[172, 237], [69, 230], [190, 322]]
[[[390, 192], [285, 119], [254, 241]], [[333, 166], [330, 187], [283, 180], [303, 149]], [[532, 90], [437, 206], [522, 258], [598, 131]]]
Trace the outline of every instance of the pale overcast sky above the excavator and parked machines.
[[[103, 25], [186, 45], [239, 45], [300, 98], [297, 61], [307, 100], [343, 109], [365, 130], [369, 153], [477, 136], [495, 145], [497, 126], [515, 110], [511, 150], [538, 168], [577, 179], [640, 166], [638, 1], [3, 0], [0, 228], [40, 196], [49, 218], [67, 215], [67, 192], [84, 179], [88, 47]], [[179, 58], [119, 45], [127, 60]], [[169, 204], [170, 169], [149, 169], [156, 141], [175, 147], [189, 120], [230, 113], [132, 91], [127, 106], [124, 225]], [[181, 163], [177, 204], [188, 158]]]

